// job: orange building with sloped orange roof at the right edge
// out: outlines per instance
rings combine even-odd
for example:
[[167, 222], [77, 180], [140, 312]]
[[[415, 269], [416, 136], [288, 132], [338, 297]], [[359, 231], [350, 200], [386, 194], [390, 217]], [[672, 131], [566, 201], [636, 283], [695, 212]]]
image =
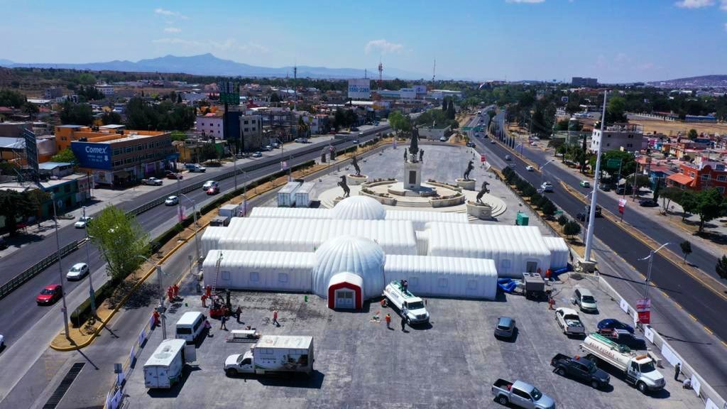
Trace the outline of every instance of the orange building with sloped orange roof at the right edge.
[[694, 162], [680, 162], [679, 172], [667, 177], [667, 186], [694, 191], [717, 188], [726, 196], [726, 164], [707, 156], [697, 156]]

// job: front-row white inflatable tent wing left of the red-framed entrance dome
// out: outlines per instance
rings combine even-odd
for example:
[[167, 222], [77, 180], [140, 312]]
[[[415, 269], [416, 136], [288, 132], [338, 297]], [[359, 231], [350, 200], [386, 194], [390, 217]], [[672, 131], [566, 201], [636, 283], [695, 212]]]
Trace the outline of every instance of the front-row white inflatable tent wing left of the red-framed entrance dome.
[[[222, 253], [220, 273], [217, 258]], [[316, 266], [313, 253], [282, 251], [212, 250], [207, 253], [202, 268], [204, 285], [230, 290], [275, 290], [310, 293], [311, 273]]]

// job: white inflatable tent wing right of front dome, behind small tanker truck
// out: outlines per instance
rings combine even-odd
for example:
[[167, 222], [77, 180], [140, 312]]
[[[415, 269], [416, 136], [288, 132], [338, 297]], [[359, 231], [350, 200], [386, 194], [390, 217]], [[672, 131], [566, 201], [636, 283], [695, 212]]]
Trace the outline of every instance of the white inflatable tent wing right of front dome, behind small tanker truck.
[[386, 282], [406, 279], [414, 295], [448, 298], [497, 296], [497, 269], [483, 258], [387, 255]]

